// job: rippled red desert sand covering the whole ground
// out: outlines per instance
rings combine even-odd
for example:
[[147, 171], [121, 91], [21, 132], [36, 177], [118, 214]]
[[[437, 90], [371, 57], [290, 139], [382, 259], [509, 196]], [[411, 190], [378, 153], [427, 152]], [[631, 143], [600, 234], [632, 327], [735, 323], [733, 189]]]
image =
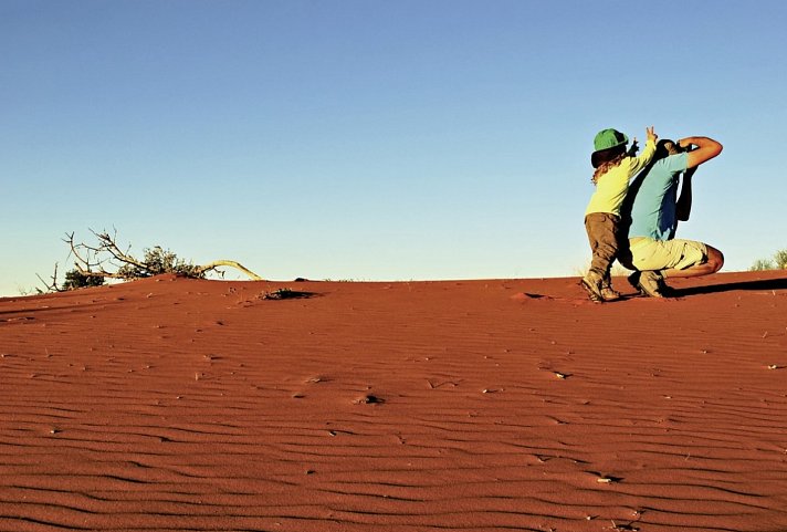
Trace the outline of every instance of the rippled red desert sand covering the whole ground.
[[786, 531], [787, 274], [576, 281], [0, 300], [0, 530]]

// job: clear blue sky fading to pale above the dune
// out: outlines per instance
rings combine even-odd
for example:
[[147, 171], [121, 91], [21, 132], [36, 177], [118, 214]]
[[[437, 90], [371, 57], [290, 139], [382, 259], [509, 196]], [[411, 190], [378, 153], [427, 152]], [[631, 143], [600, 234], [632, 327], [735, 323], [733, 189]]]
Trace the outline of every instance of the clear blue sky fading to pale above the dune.
[[745, 270], [787, 247], [785, 28], [780, 0], [0, 0], [0, 294], [113, 227], [279, 280], [576, 275], [592, 137], [649, 125], [724, 144], [679, 233]]

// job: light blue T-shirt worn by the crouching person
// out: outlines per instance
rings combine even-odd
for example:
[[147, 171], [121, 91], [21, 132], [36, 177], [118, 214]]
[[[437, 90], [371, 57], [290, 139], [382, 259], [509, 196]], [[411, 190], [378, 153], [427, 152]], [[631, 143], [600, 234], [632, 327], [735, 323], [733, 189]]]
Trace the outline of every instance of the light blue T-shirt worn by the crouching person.
[[678, 181], [686, 163], [685, 153], [670, 155], [653, 163], [631, 184], [622, 211], [625, 218], [630, 213], [629, 238], [675, 238]]

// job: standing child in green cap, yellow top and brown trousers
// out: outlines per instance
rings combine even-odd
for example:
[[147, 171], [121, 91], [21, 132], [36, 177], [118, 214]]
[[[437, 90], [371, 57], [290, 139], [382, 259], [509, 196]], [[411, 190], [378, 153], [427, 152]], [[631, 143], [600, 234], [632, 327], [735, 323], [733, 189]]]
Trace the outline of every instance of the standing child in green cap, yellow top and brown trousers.
[[637, 139], [627, 152], [629, 137], [617, 129], [604, 129], [594, 139], [596, 150], [590, 156], [590, 163], [596, 169], [592, 175], [596, 191], [585, 210], [585, 229], [592, 260], [579, 283], [595, 303], [620, 299], [620, 294], [612, 290], [609, 271], [618, 258], [620, 206], [626, 199], [629, 181], [655, 154], [658, 137], [653, 127], [646, 128], [646, 134], [648, 139], [639, 157], [636, 156]]

